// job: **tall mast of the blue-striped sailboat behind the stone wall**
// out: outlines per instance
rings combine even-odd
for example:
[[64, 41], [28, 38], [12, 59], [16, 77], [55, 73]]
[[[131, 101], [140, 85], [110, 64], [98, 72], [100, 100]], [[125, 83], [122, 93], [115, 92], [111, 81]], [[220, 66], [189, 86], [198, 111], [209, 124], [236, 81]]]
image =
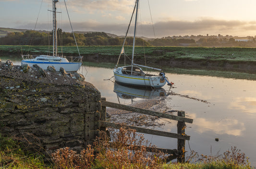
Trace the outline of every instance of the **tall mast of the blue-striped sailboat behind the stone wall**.
[[59, 0], [52, 0], [52, 11], [53, 11], [53, 30], [52, 30], [52, 36], [53, 36], [53, 56], [58, 55], [57, 51], [57, 21], [56, 21], [56, 3], [59, 2]]

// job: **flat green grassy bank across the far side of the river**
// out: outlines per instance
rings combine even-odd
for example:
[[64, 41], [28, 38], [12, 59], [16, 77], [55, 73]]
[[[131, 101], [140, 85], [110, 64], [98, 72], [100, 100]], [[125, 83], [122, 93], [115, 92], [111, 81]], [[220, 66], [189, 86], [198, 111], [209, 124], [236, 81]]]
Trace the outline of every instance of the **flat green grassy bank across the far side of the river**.
[[[0, 45], [0, 54], [48, 54], [52, 48], [50, 46], [13, 46]], [[109, 56], [118, 56], [121, 46], [79, 46], [80, 54], [102, 54]], [[131, 53], [132, 46], [125, 48], [126, 53]], [[62, 46], [59, 52], [63, 54], [76, 54], [76, 46]], [[137, 46], [135, 55], [162, 56], [161, 58], [179, 58], [180, 60], [198, 60], [198, 59], [215, 59], [230, 61], [256, 61], [256, 48], [250, 47], [142, 47]]]

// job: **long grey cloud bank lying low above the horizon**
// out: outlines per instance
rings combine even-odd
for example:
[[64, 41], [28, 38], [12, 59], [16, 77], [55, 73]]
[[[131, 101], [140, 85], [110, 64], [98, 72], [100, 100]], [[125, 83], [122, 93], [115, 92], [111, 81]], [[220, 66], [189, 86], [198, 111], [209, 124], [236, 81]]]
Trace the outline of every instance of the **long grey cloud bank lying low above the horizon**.
[[[118, 17], [122, 20], [122, 16]], [[31, 29], [35, 23], [27, 23], [16, 26], [16, 28]], [[38, 29], [49, 29], [44, 26], [47, 24], [38, 24]], [[80, 22], [73, 23], [75, 31], [100, 31], [117, 35], [124, 35], [127, 30], [128, 23], [102, 23], [102, 22]], [[70, 31], [69, 23], [62, 23], [62, 30]], [[238, 20], [217, 20], [212, 18], [201, 18], [195, 21], [184, 20], [169, 20], [159, 21], [154, 24], [154, 29], [157, 37], [172, 36], [172, 35], [198, 35], [198, 34], [230, 34], [233, 36], [254, 35], [256, 22], [245, 22]], [[132, 29], [131, 29], [132, 30]], [[152, 23], [144, 22], [139, 25], [137, 32], [138, 36], [154, 37]]]

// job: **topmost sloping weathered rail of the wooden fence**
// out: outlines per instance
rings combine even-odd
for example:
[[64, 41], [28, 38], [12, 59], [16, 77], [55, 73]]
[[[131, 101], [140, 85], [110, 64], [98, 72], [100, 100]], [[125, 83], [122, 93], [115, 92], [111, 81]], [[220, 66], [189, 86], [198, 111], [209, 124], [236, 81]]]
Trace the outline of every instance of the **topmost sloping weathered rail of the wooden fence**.
[[118, 104], [118, 103], [113, 103], [113, 102], [109, 102], [109, 101], [102, 100], [101, 106], [111, 107], [111, 108], [115, 108], [115, 109], [122, 109], [122, 110], [126, 110], [126, 111], [142, 113], [142, 114], [147, 114], [147, 115], [158, 116], [158, 117], [167, 118], [167, 119], [171, 119], [171, 120], [177, 120], [180, 122], [193, 123], [193, 119], [190, 119], [190, 118], [155, 112], [155, 111], [151, 111], [151, 110], [141, 109], [141, 108], [127, 106], [127, 105]]

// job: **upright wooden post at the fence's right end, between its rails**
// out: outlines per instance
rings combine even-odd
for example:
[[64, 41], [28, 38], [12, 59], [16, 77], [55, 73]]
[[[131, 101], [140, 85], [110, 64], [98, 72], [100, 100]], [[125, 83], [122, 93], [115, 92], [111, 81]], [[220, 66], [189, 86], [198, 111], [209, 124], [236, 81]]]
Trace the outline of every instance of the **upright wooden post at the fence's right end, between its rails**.
[[[178, 111], [178, 116], [185, 117], [185, 112], [183, 111]], [[178, 121], [177, 123], [177, 133], [178, 134], [185, 134], [185, 122], [180, 122]], [[184, 139], [178, 139], [178, 153], [179, 155], [177, 156], [177, 161], [178, 162], [185, 162], [185, 140]]]

